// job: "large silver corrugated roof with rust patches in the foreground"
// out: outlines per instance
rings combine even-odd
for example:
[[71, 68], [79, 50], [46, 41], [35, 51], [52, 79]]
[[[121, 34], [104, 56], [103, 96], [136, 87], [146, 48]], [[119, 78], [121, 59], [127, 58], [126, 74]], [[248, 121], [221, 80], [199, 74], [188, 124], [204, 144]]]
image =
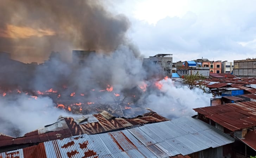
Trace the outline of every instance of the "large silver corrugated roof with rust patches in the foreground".
[[[186, 129], [184, 130], [184, 126]], [[195, 127], [196, 126], [196, 127]], [[200, 126], [200, 127], [197, 127]], [[189, 129], [191, 128], [191, 129]], [[158, 129], [158, 130], [156, 130]], [[179, 135], [179, 133], [182, 131]], [[162, 135], [163, 134], [163, 135]], [[161, 137], [161, 138], [160, 138]], [[234, 139], [198, 119], [185, 117], [175, 121], [147, 124], [133, 129], [102, 134], [83, 134], [51, 140], [16, 152], [33, 157], [171, 157], [185, 156], [210, 147], [233, 143]], [[43, 150], [44, 149], [44, 150]], [[0, 157], [7, 152], [0, 153]], [[25, 158], [29, 156], [24, 154]], [[178, 156], [177, 156], [178, 157]]]

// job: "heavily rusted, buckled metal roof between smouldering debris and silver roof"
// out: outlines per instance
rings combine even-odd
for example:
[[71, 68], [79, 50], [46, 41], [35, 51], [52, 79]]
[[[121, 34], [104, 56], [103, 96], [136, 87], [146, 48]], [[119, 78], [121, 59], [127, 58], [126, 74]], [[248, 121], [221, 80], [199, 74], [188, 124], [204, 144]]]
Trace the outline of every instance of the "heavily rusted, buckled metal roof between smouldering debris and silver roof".
[[[46, 125], [38, 130], [26, 133], [24, 137], [0, 139], [0, 147], [7, 145], [39, 143], [48, 140], [63, 139], [81, 134], [96, 134], [117, 129], [123, 129], [140, 124], [167, 121], [169, 119], [155, 112], [143, 114], [136, 118], [115, 118], [107, 111], [99, 114], [84, 115], [81, 117], [60, 116], [56, 123]], [[1, 135], [0, 135], [1, 138]]]

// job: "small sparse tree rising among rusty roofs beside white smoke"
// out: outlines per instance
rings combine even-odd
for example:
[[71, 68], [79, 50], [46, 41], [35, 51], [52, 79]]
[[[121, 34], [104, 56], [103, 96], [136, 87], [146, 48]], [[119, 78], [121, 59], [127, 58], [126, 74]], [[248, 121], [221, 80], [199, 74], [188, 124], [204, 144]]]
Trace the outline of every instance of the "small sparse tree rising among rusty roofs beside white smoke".
[[196, 74], [184, 76], [183, 83], [186, 84], [191, 90], [199, 87], [205, 92], [205, 86], [202, 84], [203, 79], [205, 79], [205, 77], [202, 74], [199, 75], [197, 72]]

